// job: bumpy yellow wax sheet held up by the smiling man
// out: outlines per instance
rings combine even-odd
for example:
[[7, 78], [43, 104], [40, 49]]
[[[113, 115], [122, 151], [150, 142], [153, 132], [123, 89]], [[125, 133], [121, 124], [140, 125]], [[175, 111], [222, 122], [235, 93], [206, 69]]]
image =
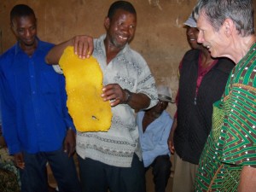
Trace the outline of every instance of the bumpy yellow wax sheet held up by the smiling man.
[[67, 108], [77, 131], [108, 131], [112, 112], [102, 95], [103, 74], [96, 58], [80, 59], [69, 46], [61, 55], [66, 79]]

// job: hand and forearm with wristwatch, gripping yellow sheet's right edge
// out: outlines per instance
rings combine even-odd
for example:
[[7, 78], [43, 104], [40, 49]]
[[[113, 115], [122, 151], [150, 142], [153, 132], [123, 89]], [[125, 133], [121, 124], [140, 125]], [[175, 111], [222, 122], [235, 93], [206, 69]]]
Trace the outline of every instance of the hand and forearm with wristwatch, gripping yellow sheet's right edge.
[[[148, 96], [142, 93], [131, 93], [131, 100], [127, 104], [133, 109], [148, 108], [150, 99]], [[124, 103], [127, 98], [127, 94], [119, 84], [108, 84], [102, 89], [102, 98], [104, 101], [111, 101], [111, 106], [114, 107], [118, 104]]]

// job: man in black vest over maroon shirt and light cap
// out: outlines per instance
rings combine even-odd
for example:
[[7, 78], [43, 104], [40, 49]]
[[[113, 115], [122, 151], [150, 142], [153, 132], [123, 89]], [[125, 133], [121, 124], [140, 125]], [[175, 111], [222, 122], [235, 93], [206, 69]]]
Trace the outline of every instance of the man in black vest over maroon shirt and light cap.
[[212, 128], [212, 103], [222, 96], [235, 65], [228, 59], [212, 59], [208, 49], [197, 44], [199, 31], [191, 15], [184, 25], [192, 49], [179, 66], [177, 113], [168, 143], [176, 152], [172, 191], [194, 192], [199, 158]]

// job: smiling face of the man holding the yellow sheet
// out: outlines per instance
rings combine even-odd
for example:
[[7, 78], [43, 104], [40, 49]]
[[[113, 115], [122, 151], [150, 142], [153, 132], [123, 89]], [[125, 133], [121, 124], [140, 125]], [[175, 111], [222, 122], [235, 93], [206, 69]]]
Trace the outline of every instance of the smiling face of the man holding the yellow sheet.
[[112, 20], [105, 20], [107, 38], [114, 47], [122, 49], [135, 35], [137, 17], [123, 9], [116, 10]]

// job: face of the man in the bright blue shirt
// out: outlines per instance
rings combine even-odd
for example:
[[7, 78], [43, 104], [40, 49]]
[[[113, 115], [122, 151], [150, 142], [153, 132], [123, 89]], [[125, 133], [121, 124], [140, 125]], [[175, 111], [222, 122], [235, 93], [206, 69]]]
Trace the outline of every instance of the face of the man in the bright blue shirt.
[[36, 42], [37, 20], [33, 15], [15, 17], [12, 28], [20, 46], [32, 46]]

